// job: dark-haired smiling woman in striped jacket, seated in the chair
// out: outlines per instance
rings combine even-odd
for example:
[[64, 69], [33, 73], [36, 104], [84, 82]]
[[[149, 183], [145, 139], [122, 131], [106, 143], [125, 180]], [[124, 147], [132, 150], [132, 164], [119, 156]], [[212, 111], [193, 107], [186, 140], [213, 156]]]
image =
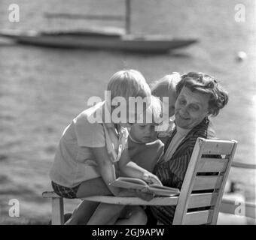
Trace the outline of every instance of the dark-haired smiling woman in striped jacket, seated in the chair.
[[[197, 137], [213, 138], [209, 116], [218, 115], [228, 101], [227, 92], [214, 77], [190, 72], [176, 86], [175, 129], [166, 142], [163, 159], [154, 174], [163, 185], [181, 189]], [[172, 224], [175, 206], [154, 205], [146, 209], [148, 224]]]

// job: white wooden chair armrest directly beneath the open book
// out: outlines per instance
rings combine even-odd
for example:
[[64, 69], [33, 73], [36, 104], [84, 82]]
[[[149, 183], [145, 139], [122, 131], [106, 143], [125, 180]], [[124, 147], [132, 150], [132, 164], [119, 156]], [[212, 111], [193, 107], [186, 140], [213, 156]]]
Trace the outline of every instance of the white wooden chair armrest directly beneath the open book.
[[177, 205], [178, 203], [178, 196], [154, 197], [151, 201], [145, 201], [133, 196], [87, 196], [84, 199], [92, 202], [120, 205]]

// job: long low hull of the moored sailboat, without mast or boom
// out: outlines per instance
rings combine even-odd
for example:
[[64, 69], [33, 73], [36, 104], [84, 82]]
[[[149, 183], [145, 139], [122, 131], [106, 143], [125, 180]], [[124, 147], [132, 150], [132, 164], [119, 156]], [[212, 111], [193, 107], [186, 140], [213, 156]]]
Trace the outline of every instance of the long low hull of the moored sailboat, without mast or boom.
[[179, 39], [158, 35], [123, 34], [109, 29], [84, 31], [15, 31], [0, 30], [1, 37], [17, 43], [57, 48], [107, 49], [130, 52], [168, 52], [189, 46], [196, 39]]

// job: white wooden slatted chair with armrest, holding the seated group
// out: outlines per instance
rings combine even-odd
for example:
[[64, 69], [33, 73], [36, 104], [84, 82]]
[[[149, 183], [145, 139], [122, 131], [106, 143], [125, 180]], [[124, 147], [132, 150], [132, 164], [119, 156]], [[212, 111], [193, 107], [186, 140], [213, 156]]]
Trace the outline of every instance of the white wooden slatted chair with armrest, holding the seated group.
[[[172, 224], [216, 224], [236, 145], [234, 140], [198, 138], [179, 196], [154, 197], [149, 202], [138, 197], [90, 196], [85, 199], [121, 205], [176, 205]], [[52, 199], [52, 223], [62, 224], [62, 198], [49, 192], [44, 192], [43, 196]]]

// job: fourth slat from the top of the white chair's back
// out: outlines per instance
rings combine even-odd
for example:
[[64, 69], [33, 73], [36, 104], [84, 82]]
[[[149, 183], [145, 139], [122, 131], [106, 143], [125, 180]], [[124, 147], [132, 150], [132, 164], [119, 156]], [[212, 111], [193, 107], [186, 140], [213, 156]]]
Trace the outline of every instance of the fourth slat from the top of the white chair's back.
[[188, 199], [188, 208], [208, 207], [215, 204], [218, 193], [193, 193]]

